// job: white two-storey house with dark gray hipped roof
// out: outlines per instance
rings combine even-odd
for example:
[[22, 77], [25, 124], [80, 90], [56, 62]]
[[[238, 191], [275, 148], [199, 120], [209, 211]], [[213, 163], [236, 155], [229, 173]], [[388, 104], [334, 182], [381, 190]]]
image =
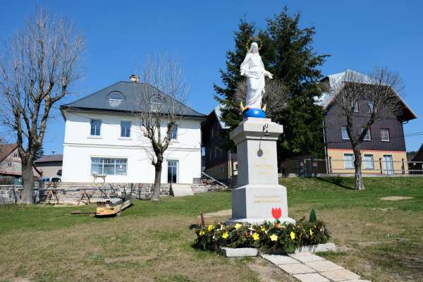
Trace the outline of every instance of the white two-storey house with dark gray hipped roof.
[[[105, 175], [110, 183], [154, 182], [154, 166], [146, 151], [151, 145], [133, 114], [140, 85], [117, 82], [61, 106], [66, 121], [63, 182], [92, 182], [94, 174]], [[204, 115], [185, 105], [182, 109], [183, 118], [165, 152], [161, 183], [195, 183], [201, 176]]]

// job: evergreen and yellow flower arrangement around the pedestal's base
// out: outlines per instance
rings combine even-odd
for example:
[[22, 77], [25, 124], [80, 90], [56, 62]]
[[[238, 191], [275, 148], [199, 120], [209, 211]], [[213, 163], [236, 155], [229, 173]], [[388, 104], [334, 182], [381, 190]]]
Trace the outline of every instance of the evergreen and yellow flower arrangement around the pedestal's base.
[[[210, 226], [213, 226], [210, 227]], [[329, 231], [323, 221], [300, 219], [296, 224], [261, 225], [240, 224], [226, 226], [224, 223], [195, 226], [195, 245], [202, 250], [216, 247], [257, 247], [259, 249], [281, 249], [292, 253], [298, 247], [327, 243]]]

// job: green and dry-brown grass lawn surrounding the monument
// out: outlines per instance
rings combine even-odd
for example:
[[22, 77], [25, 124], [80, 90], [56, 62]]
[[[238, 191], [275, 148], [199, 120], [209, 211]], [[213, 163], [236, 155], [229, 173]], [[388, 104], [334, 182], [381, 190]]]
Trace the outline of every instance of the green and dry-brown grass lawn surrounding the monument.
[[[290, 216], [316, 209], [342, 252], [320, 254], [372, 281], [423, 281], [423, 178], [283, 178]], [[382, 201], [406, 196], [411, 200]], [[192, 248], [200, 211], [231, 208], [230, 192], [135, 201], [121, 216], [89, 207], [0, 207], [0, 281], [293, 281], [260, 259]], [[216, 217], [207, 220], [224, 220]], [[266, 276], [267, 275], [267, 276]], [[270, 279], [270, 278], [269, 278]]]

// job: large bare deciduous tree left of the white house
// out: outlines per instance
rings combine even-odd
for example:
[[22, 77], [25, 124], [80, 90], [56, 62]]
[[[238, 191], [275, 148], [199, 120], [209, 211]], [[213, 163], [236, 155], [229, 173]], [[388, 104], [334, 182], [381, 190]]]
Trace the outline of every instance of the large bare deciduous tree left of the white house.
[[22, 161], [22, 202], [33, 202], [32, 161], [54, 104], [80, 77], [83, 37], [73, 23], [37, 8], [0, 56], [1, 122], [16, 134]]

